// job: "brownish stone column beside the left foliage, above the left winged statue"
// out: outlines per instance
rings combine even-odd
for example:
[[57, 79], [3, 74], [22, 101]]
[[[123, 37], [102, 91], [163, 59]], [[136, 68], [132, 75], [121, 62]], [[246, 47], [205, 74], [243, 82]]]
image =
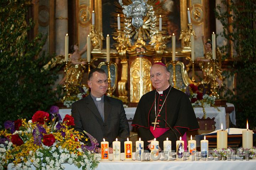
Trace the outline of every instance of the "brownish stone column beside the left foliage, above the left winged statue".
[[65, 35], [68, 33], [68, 0], [55, 0], [55, 53], [65, 54]]

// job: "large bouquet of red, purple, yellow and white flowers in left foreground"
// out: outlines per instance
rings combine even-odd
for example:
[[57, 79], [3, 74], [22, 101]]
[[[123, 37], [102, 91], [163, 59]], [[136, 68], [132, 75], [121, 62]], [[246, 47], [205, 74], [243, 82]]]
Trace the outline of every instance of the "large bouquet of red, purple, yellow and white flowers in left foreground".
[[[74, 118], [66, 115], [63, 123], [59, 119], [58, 107], [34, 113], [32, 120], [6, 121], [0, 131], [0, 170], [13, 163], [16, 169], [37, 170], [64, 169], [63, 163], [74, 164], [82, 169], [94, 169], [98, 159], [94, 153], [97, 141], [74, 131]], [[61, 118], [60, 118], [61, 119]], [[59, 120], [60, 120], [59, 119]], [[56, 123], [55, 123], [56, 122]], [[91, 141], [91, 146], [82, 141]]]

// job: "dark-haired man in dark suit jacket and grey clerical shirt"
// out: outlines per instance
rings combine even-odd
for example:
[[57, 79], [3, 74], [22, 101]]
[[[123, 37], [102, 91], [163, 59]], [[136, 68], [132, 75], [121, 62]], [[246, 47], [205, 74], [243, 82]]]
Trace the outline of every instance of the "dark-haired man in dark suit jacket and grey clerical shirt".
[[105, 138], [112, 153], [112, 142], [121, 141], [121, 152], [124, 141], [129, 137], [129, 125], [121, 100], [105, 95], [108, 88], [107, 76], [101, 68], [92, 69], [88, 76], [91, 93], [71, 105], [75, 120], [75, 130], [84, 130], [100, 143]]

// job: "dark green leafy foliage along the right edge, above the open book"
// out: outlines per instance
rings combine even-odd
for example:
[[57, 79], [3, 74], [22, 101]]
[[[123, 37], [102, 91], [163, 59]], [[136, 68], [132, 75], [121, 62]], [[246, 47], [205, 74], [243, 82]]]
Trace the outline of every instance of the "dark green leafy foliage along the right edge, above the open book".
[[[222, 6], [217, 6], [216, 16], [223, 24], [224, 31], [220, 36], [232, 40], [236, 55], [234, 56], [234, 72], [237, 74], [236, 95], [231, 95], [228, 101], [236, 107], [236, 122], [238, 127], [245, 128], [248, 118], [250, 129], [256, 127], [256, 1], [230, 0], [230, 13], [228, 1], [222, 0]], [[230, 25], [233, 32], [228, 32], [228, 17], [233, 20]], [[229, 44], [222, 47], [223, 52], [229, 56]], [[230, 93], [229, 93], [230, 94]]]

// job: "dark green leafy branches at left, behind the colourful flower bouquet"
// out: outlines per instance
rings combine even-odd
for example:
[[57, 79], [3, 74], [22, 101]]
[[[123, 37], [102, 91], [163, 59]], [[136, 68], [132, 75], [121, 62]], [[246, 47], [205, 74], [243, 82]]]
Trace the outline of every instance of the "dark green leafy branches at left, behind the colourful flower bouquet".
[[26, 22], [31, 0], [0, 2], [0, 128], [17, 116], [30, 118], [39, 109], [47, 110], [57, 100], [51, 85], [57, 70], [41, 68], [50, 56], [41, 50], [46, 35], [28, 40], [33, 22]]

